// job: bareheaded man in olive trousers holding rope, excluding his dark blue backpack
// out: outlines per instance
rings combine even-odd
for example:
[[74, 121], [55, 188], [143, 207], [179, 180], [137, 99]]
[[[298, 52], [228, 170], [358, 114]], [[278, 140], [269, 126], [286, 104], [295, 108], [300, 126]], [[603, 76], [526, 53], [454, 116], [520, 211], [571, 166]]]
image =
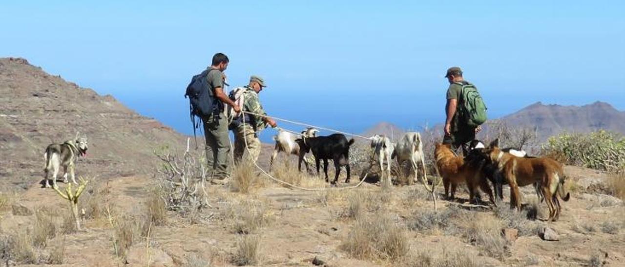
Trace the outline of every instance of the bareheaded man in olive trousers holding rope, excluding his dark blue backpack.
[[209, 170], [212, 169], [211, 183], [224, 184], [228, 178], [228, 153], [230, 153], [230, 137], [228, 136], [228, 123], [224, 115], [224, 104], [227, 104], [238, 112], [240, 109], [224, 93], [226, 75], [224, 70], [230, 60], [222, 53], [212, 56], [209, 67], [207, 82], [209, 90], [212, 90], [216, 99], [217, 110], [212, 115], [202, 118], [204, 125], [204, 137], [206, 137], [206, 163]]

